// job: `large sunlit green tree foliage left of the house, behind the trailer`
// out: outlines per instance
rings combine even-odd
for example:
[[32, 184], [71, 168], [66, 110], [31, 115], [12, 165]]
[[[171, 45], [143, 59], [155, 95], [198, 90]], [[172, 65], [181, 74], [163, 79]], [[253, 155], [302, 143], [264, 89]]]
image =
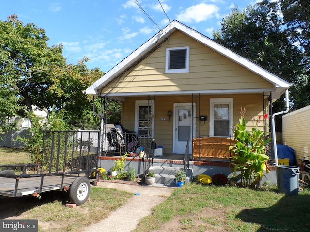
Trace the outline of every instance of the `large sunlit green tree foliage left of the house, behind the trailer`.
[[59, 112], [71, 127], [98, 123], [92, 99], [83, 93], [104, 73], [88, 70], [84, 58], [67, 64], [62, 45], [49, 47], [45, 30], [23, 25], [16, 15], [0, 21], [0, 133], [12, 129], [12, 118], [26, 116], [32, 105]]

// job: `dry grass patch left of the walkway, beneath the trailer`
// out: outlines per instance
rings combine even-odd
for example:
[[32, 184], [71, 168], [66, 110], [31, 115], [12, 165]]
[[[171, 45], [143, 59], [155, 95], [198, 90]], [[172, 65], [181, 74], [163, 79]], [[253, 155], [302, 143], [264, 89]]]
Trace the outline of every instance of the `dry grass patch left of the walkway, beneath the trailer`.
[[43, 193], [40, 200], [31, 196], [5, 198], [0, 199], [0, 219], [37, 219], [39, 232], [76, 232], [108, 217], [131, 197], [133, 194], [125, 191], [92, 186], [90, 201], [76, 208], [65, 207], [68, 195], [64, 192]]

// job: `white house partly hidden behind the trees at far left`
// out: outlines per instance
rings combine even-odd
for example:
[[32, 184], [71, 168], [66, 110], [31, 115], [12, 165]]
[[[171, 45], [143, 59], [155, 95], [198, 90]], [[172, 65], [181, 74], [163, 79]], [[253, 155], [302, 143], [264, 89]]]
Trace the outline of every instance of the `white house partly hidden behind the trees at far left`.
[[[33, 113], [36, 117], [41, 119], [47, 118], [47, 110], [39, 110], [37, 107], [32, 105]], [[31, 122], [29, 119], [16, 117], [14, 119], [17, 121], [17, 130], [8, 131], [7, 133], [0, 135], [0, 147], [24, 147], [25, 145], [17, 140], [18, 137], [26, 138], [31, 136], [29, 133], [29, 128], [31, 128]]]

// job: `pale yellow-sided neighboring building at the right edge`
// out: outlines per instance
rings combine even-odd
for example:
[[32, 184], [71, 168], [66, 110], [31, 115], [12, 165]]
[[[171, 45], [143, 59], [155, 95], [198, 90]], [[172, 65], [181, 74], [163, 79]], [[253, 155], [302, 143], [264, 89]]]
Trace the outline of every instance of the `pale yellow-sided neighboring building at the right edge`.
[[297, 162], [310, 160], [310, 105], [282, 116], [282, 141], [294, 149]]

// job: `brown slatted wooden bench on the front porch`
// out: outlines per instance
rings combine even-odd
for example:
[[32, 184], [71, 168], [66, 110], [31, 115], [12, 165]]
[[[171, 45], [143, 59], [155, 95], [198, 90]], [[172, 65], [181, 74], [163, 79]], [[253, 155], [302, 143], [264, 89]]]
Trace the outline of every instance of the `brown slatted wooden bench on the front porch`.
[[234, 140], [224, 137], [193, 139], [193, 160], [229, 159], [231, 157], [230, 145], [234, 145]]

